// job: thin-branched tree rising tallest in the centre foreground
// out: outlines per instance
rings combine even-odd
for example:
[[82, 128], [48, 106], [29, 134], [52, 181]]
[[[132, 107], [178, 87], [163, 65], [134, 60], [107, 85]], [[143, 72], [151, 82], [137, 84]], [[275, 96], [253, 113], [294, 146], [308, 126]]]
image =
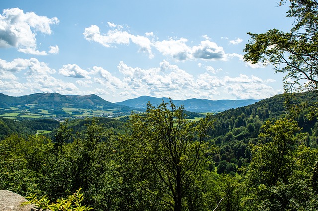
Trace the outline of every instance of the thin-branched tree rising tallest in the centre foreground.
[[183, 106], [170, 103], [147, 105], [146, 115], [133, 115], [133, 138], [139, 142], [140, 155], [147, 157], [159, 176], [157, 187], [168, 197], [162, 203], [181, 211], [184, 185], [195, 174], [205, 156], [207, 131], [212, 126], [209, 116], [189, 122]]

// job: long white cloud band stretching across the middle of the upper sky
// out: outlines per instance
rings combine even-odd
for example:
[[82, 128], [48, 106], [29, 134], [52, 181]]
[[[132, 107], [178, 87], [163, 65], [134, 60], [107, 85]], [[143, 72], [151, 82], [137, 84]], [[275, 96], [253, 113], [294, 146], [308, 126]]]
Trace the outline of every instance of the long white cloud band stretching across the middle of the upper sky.
[[[107, 48], [116, 47], [116, 45], [129, 45], [134, 43], [139, 47], [139, 52], [148, 54], [149, 58], [154, 58], [153, 48], [159, 51], [163, 56], [171, 57], [176, 61], [185, 60], [227, 60], [227, 54], [224, 49], [216, 43], [211, 42], [207, 35], [202, 37], [206, 40], [201, 41], [197, 46], [187, 45], [186, 38], [169, 38], [160, 41], [154, 36], [153, 32], [146, 32], [145, 35], [133, 35], [124, 30], [123, 26], [114, 23], [108, 23], [110, 29], [102, 34], [97, 25], [91, 25], [85, 28], [83, 33], [88, 41], [97, 42]], [[239, 42], [239, 40], [237, 40]]]

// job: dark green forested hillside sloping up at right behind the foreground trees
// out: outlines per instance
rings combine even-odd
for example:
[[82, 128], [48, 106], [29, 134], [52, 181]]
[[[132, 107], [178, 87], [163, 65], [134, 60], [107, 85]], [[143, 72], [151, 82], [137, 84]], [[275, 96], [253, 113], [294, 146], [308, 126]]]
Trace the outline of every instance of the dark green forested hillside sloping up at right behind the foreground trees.
[[[318, 101], [317, 96], [310, 92], [294, 94], [293, 97], [289, 99], [291, 101], [290, 103], [294, 105]], [[244, 136], [242, 136], [242, 134], [238, 136], [237, 138], [239, 140], [242, 140], [244, 137], [257, 137], [259, 128], [264, 121], [282, 118], [287, 114], [285, 101], [286, 96], [280, 94], [261, 100], [255, 104], [220, 112], [215, 115], [217, 121], [213, 130], [213, 137], [224, 136], [229, 132], [234, 135], [239, 135], [239, 131], [245, 134]], [[306, 113], [308, 113], [308, 111], [303, 110], [295, 120], [304, 131], [311, 133], [310, 128], [313, 127], [316, 120], [308, 120]]]

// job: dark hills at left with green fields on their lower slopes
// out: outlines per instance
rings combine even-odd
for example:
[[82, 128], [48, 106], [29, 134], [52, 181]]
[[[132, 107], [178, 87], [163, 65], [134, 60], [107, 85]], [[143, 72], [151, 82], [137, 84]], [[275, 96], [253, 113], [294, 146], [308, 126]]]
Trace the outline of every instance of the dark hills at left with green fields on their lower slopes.
[[0, 116], [3, 117], [116, 117], [130, 114], [133, 110], [136, 109], [105, 101], [97, 95], [35, 93], [13, 97], [0, 93]]

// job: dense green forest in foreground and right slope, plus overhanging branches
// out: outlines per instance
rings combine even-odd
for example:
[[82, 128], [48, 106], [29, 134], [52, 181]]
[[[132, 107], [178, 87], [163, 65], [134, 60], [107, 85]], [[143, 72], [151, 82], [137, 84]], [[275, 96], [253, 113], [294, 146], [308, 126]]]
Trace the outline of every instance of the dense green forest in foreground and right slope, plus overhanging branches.
[[170, 100], [121, 120], [0, 118], [0, 189], [51, 210], [318, 210], [318, 3], [286, 2], [290, 32], [244, 49], [285, 94], [204, 117]]

